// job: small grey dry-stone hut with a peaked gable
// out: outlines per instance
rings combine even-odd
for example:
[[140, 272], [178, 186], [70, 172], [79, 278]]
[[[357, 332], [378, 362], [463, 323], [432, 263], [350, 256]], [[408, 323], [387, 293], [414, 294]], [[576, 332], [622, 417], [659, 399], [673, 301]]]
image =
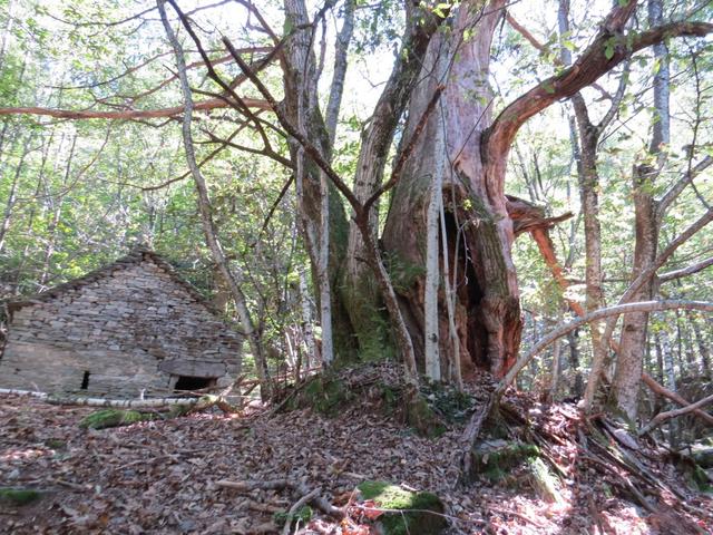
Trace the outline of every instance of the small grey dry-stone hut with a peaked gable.
[[0, 388], [137, 397], [221, 386], [243, 337], [156, 253], [7, 303]]

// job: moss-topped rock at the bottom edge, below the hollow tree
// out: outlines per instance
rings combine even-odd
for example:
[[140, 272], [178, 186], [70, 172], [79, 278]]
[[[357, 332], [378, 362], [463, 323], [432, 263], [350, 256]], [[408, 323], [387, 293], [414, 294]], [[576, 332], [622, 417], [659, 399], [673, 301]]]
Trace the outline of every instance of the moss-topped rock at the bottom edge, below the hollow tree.
[[363, 481], [356, 486], [361, 500], [372, 500], [384, 535], [437, 535], [448, 525], [441, 499], [432, 493], [407, 490], [387, 481]]

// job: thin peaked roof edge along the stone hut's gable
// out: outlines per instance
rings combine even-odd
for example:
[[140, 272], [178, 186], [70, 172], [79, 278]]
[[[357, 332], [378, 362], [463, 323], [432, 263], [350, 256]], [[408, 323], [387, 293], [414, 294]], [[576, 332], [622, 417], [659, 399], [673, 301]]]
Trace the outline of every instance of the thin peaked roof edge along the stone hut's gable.
[[71, 281], [67, 281], [62, 284], [58, 284], [57, 286], [50, 288], [40, 293], [26, 295], [21, 300], [7, 301], [6, 305], [9, 312], [13, 312], [25, 307], [31, 307], [33, 304], [43, 303], [70, 290], [78, 290], [82, 286], [91, 284], [92, 282], [97, 282], [106, 276], [111, 276], [111, 274], [116, 271], [125, 270], [133, 265], [138, 265], [145, 260], [153, 261], [165, 273], [167, 273], [172, 278], [172, 280], [176, 282], [176, 284], [183, 286], [186, 290], [186, 292], [191, 294], [191, 296], [193, 296], [198, 303], [203, 304], [212, 314], [219, 315], [218, 311], [213, 307], [213, 304], [207, 299], [205, 299], [201, 294], [201, 292], [196, 290], [196, 288], [193, 284], [191, 284], [183, 276], [180, 276], [178, 272], [176, 272], [173, 265], [170, 265], [158, 253], [148, 249], [146, 245], [137, 245], [126, 256], [121, 256], [120, 259], [114, 261], [110, 264], [107, 264], [102, 268], [90, 271], [86, 275], [79, 276], [77, 279], [72, 279]]

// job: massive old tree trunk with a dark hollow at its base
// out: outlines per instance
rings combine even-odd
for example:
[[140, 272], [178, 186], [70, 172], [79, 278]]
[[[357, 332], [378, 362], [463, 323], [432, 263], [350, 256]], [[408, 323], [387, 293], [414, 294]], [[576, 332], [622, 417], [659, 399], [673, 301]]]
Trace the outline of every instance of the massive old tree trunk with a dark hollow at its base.
[[[477, 2], [473, 2], [477, 3]], [[432, 143], [443, 129], [447, 162], [442, 176], [446, 233], [451, 283], [457, 288], [456, 322], [463, 378], [475, 368], [502, 374], [515, 361], [520, 341], [520, 309], [510, 255], [512, 222], [501, 184], [509, 146], [485, 160], [481, 137], [491, 124], [487, 85], [492, 32], [505, 2], [466, 4], [453, 22], [452, 36], [472, 28], [462, 39], [436, 35], [421, 70], [422, 81], [409, 103], [403, 138], [409, 139], [431, 95], [446, 85], [440, 109], [429, 117], [420, 142], [404, 164], [383, 232], [394, 285], [408, 322], [417, 358], [423, 360], [423, 285], [427, 207], [432, 177], [440, 172]], [[448, 72], [448, 75], [443, 75]], [[439, 300], [445, 303], [443, 299]], [[440, 354], [452, 354], [445, 305], [439, 325]], [[442, 362], [445, 369], [446, 362]]]

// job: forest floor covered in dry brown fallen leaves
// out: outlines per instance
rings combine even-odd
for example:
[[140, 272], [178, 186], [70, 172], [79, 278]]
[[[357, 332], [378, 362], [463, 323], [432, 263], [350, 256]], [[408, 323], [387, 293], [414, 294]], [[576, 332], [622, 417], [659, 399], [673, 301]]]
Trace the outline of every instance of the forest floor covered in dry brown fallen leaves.
[[[274, 514], [290, 509], [299, 495], [216, 485], [277, 478], [321, 487], [338, 506], [362, 480], [430, 490], [443, 499], [453, 534], [713, 533], [712, 496], [691, 490], [663, 457], [647, 454], [647, 469], [670, 489], [653, 493], [657, 502], [649, 497], [647, 512], [617, 490], [622, 478], [635, 479], [631, 474], [598, 466], [577, 446], [574, 406], [510, 398], [534, 428], [554, 437], [549, 451], [565, 475], [559, 503], [528, 488], [517, 470], [509, 480], [457, 485], [462, 426], [421, 438], [369, 402], [332, 418], [311, 409], [215, 412], [85, 430], [77, 424], [91, 408], [2, 396], [0, 487], [37, 488], [42, 497], [25, 506], [0, 502], [0, 533], [281, 533]], [[370, 533], [358, 529], [359, 518], [348, 529], [315, 516], [300, 533]]]

